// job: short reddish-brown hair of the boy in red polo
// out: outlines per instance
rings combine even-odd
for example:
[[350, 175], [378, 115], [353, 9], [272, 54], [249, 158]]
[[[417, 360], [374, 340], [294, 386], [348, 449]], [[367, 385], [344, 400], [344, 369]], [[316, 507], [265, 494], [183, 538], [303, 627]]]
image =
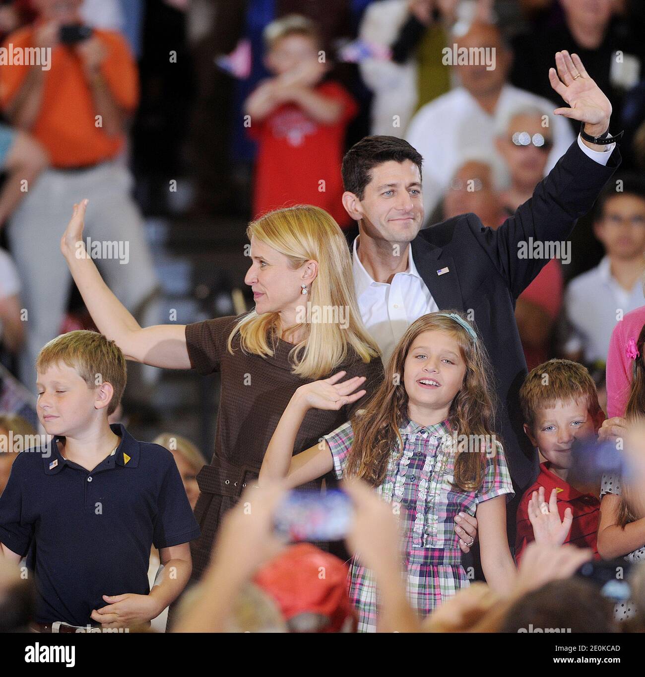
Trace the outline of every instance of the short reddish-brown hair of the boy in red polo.
[[592, 416], [600, 412], [596, 384], [587, 368], [570, 359], [550, 359], [531, 369], [522, 383], [520, 406], [524, 422], [533, 430], [537, 410], [550, 409], [559, 401], [581, 398], [586, 399]]

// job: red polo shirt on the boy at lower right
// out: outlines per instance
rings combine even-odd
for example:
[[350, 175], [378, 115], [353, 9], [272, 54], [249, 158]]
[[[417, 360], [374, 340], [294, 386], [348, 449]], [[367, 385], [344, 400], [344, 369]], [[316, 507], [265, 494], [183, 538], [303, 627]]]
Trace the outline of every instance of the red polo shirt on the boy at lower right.
[[560, 519], [564, 519], [564, 510], [571, 508], [573, 512], [573, 524], [571, 531], [567, 536], [565, 543], [573, 543], [580, 548], [592, 548], [594, 556], [598, 557], [598, 548], [596, 548], [596, 534], [598, 532], [598, 521], [600, 520], [600, 501], [591, 494], [581, 494], [569, 483], [560, 479], [549, 470], [550, 463], [541, 463], [540, 473], [528, 491], [522, 496], [520, 505], [517, 509], [517, 537], [515, 542], [515, 559], [520, 562], [520, 557], [524, 548], [534, 540], [533, 526], [529, 521], [529, 500], [533, 492], [537, 492], [539, 487], [544, 487], [546, 500], [549, 500], [553, 489], [558, 490], [558, 512]]

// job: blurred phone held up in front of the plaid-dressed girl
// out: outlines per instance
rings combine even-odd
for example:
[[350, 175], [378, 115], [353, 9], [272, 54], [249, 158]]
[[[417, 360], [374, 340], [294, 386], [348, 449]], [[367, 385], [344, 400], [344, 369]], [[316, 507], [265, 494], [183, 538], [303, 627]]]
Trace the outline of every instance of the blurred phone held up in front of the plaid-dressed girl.
[[354, 517], [351, 498], [340, 489], [295, 489], [275, 512], [275, 531], [291, 541], [338, 541]]

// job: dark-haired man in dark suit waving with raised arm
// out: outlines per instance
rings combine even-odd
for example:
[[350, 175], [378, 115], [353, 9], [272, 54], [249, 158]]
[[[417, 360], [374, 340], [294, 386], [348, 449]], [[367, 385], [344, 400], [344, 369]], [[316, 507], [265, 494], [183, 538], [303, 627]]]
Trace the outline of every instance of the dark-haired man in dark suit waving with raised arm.
[[[584, 123], [587, 135], [606, 138], [607, 97], [575, 54], [558, 52], [556, 67], [557, 73], [550, 69], [550, 81], [569, 107], [557, 108], [555, 114]], [[458, 309], [474, 320], [495, 370], [497, 432], [517, 498], [535, 480], [538, 464], [522, 431], [518, 393], [527, 367], [515, 302], [554, 255], [565, 255], [577, 219], [590, 211], [619, 164], [615, 144], [579, 137], [537, 184], [533, 197], [497, 230], [484, 227], [472, 213], [420, 230], [422, 158], [407, 141], [365, 137], [343, 160], [343, 204], [359, 226], [353, 267], [365, 326], [385, 361], [420, 315]], [[512, 537], [514, 510], [509, 508]], [[468, 534], [462, 535], [466, 546], [472, 544]]]

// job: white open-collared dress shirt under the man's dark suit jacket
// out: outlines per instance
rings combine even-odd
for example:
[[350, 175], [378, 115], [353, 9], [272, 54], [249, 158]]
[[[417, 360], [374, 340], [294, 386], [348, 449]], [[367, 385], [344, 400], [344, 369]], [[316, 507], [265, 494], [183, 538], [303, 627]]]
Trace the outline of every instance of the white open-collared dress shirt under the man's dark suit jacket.
[[[609, 144], [604, 151], [592, 150], [583, 144], [578, 135], [578, 146], [592, 160], [599, 162], [600, 165], [606, 165], [616, 144]], [[391, 284], [388, 284], [375, 282], [365, 270], [358, 257], [358, 242], [359, 238], [356, 238], [352, 255], [358, 307], [363, 324], [376, 341], [383, 364], [386, 365], [407, 327], [421, 315], [437, 312], [439, 307], [416, 269], [411, 246], [408, 248], [407, 269], [403, 273], [397, 273], [392, 278]], [[639, 305], [642, 305], [642, 299]]]

